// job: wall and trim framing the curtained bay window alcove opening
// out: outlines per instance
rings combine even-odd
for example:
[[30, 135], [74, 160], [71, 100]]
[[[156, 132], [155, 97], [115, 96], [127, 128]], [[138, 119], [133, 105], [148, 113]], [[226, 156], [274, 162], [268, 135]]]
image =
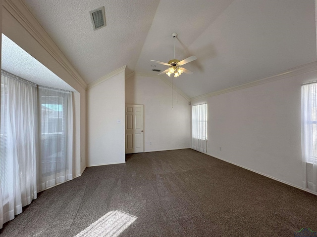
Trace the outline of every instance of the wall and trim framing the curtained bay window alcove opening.
[[[59, 78], [66, 81], [77, 92], [74, 92], [74, 155], [73, 177], [81, 175], [86, 167], [86, 90], [85, 84], [78, 82], [73, 74], [72, 67], [67, 59], [60, 61], [59, 49], [53, 40], [46, 34], [36, 19], [31, 15], [20, 1], [11, 1], [16, 8], [11, 8], [3, 1], [2, 6], [2, 33], [13, 40], [26, 52], [36, 58], [50, 69]], [[26, 24], [25, 19], [28, 21]], [[37, 34], [34, 34], [37, 32]], [[43, 46], [36, 38], [41, 38], [46, 45]], [[43, 43], [43, 42], [42, 42]], [[64, 57], [64, 56], [62, 56]], [[63, 65], [65, 64], [65, 65]]]

